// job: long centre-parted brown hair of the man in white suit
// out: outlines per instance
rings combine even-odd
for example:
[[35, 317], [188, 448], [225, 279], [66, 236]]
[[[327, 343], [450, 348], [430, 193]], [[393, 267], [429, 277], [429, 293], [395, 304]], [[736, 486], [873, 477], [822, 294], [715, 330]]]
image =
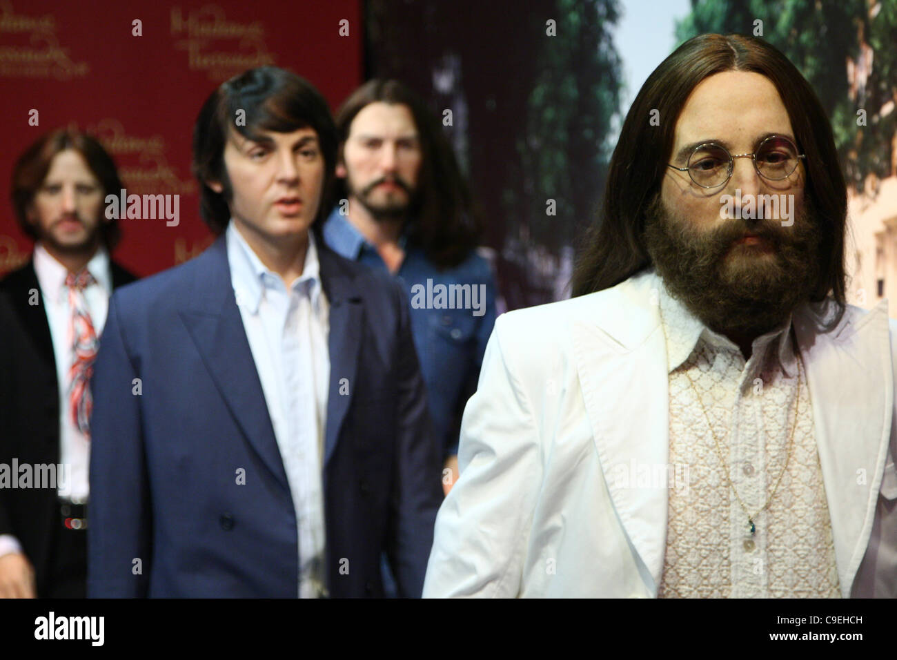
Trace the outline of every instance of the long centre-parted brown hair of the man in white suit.
[[[723, 71], [765, 75], [788, 110], [797, 146], [806, 154], [806, 195], [813, 201], [822, 233], [820, 276], [812, 300], [822, 301], [832, 293], [837, 322], [847, 304], [847, 189], [832, 125], [813, 88], [788, 57], [766, 41], [737, 34], [703, 34], [684, 42], [642, 85], [611, 157], [601, 217], [589, 231], [577, 260], [573, 295], [615, 286], [649, 267], [646, 210], [659, 193], [673, 149], [676, 121], [692, 90]], [[649, 122], [654, 110], [659, 111], [659, 126]]]

